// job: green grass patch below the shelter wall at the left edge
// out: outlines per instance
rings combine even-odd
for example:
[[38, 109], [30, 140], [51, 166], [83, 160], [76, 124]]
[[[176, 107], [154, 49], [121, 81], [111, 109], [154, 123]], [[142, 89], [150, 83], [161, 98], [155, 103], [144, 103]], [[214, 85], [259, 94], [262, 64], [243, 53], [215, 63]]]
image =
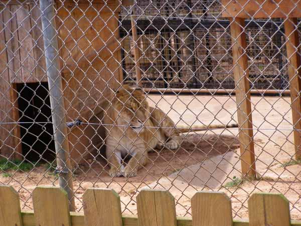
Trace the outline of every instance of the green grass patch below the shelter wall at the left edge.
[[30, 171], [34, 168], [34, 166], [38, 166], [38, 165], [39, 164], [30, 163], [22, 160], [0, 159], [0, 171], [7, 171], [7, 170]]

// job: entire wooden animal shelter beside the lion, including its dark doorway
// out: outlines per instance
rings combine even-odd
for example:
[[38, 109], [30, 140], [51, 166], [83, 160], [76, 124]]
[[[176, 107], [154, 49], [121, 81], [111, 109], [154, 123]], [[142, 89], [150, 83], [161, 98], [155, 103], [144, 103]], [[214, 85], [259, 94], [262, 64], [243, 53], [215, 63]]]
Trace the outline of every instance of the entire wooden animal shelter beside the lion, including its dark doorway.
[[[85, 121], [97, 118], [103, 102], [106, 98], [109, 100], [112, 88], [122, 81], [118, 30], [121, 6], [118, 1], [93, 1], [93, 8], [89, 6], [89, 1], [55, 2], [59, 71], [64, 83], [62, 98], [68, 122], [77, 118]], [[34, 149], [28, 156], [32, 160], [44, 154], [45, 158], [51, 155], [53, 158], [51, 109], [38, 2], [3, 2], [1, 21], [1, 68], [4, 70], [0, 82], [0, 119], [6, 123], [27, 124], [22, 127], [1, 125], [0, 153], [11, 159], [23, 159]], [[103, 136], [99, 127], [84, 127], [84, 134], [75, 127], [68, 136], [73, 164], [91, 149], [91, 138], [96, 139], [94, 143], [100, 143]], [[99, 136], [95, 136], [96, 133]]]

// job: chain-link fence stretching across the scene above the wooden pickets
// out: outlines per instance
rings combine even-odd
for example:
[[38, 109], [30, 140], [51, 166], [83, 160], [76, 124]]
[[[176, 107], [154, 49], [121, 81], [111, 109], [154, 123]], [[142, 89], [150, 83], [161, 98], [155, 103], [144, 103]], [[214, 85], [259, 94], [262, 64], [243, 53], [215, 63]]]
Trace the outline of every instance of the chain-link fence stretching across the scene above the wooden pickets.
[[163, 188], [182, 216], [223, 191], [236, 218], [280, 192], [300, 219], [300, 4], [259, 2], [1, 1], [0, 184], [76, 211], [113, 188], [132, 214]]

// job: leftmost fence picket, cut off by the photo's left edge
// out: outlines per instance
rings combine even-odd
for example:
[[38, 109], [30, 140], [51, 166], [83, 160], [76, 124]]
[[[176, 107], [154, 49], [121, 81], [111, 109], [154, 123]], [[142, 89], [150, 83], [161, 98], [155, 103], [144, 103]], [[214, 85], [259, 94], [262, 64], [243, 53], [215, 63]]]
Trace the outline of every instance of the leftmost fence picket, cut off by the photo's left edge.
[[12, 186], [0, 185], [0, 225], [22, 226], [20, 199]]

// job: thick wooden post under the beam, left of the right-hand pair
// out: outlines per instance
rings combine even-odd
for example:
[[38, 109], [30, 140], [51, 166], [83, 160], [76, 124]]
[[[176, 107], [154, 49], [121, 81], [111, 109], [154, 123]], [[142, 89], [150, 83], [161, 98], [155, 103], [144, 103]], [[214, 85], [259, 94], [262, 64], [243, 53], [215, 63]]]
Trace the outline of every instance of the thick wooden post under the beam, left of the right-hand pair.
[[256, 176], [251, 112], [251, 95], [248, 81], [248, 61], [245, 55], [246, 36], [244, 19], [231, 21], [232, 54], [234, 65], [235, 96], [239, 124], [240, 158], [243, 175]]

